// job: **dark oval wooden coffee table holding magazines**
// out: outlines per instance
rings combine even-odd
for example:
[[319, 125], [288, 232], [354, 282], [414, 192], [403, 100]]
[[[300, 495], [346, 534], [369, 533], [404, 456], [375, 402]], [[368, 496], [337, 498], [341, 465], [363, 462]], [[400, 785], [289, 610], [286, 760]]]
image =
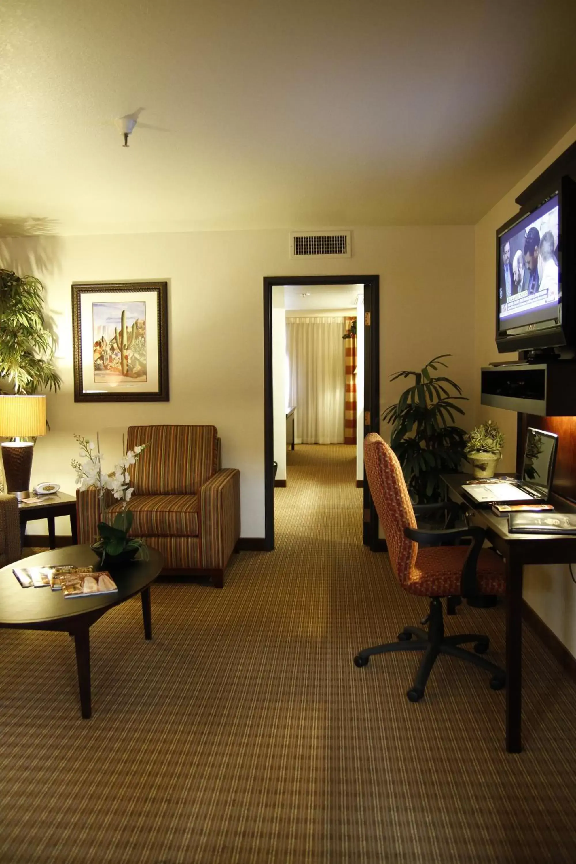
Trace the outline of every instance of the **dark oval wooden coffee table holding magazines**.
[[61, 591], [48, 586], [22, 588], [12, 568], [54, 567], [73, 564], [90, 567], [98, 561], [90, 546], [66, 546], [63, 549], [40, 552], [0, 569], [0, 627], [16, 630], [54, 630], [74, 637], [80, 707], [86, 719], [92, 716], [90, 688], [90, 627], [98, 618], [124, 600], [140, 594], [144, 636], [152, 638], [150, 584], [162, 568], [162, 556], [149, 550], [149, 561], [135, 561], [108, 568], [118, 590], [111, 594], [92, 594], [66, 599]]

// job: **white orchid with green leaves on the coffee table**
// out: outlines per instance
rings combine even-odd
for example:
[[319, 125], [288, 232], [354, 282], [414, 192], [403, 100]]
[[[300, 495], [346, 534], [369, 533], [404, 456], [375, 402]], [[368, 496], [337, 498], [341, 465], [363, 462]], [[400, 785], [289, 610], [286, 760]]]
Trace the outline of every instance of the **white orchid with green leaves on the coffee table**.
[[[142, 540], [137, 537], [129, 537], [130, 528], [134, 521], [134, 513], [128, 508], [128, 502], [132, 497], [134, 489], [130, 486], [130, 474], [128, 468], [135, 465], [146, 444], [139, 444], [134, 450], [129, 450], [122, 459], [114, 466], [114, 471], [106, 474], [102, 470], [103, 454], [100, 453], [100, 441], [97, 435], [97, 443], [94, 445], [89, 438], [82, 435], [74, 435], [79, 443], [80, 459], [73, 459], [71, 465], [76, 472], [76, 485], [82, 492], [85, 489], [94, 488], [98, 492], [98, 508], [100, 521], [98, 522], [98, 539], [92, 543], [92, 550], [96, 552], [102, 564], [119, 563], [131, 561], [138, 553], [142, 558], [148, 556], [148, 549]], [[124, 443], [122, 441], [124, 452]], [[112, 524], [105, 518], [106, 493], [118, 501], [122, 501], [122, 507], [116, 512]]]

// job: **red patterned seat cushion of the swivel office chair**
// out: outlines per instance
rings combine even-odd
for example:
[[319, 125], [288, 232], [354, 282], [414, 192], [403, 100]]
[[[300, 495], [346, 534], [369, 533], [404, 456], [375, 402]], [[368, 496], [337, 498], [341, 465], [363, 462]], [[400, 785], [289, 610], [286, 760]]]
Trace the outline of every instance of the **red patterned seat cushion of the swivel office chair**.
[[[405, 584], [410, 594], [422, 597], [449, 597], [460, 594], [460, 580], [468, 546], [419, 546], [414, 569]], [[506, 588], [503, 560], [483, 549], [476, 568], [478, 589], [482, 594], [504, 594]]]

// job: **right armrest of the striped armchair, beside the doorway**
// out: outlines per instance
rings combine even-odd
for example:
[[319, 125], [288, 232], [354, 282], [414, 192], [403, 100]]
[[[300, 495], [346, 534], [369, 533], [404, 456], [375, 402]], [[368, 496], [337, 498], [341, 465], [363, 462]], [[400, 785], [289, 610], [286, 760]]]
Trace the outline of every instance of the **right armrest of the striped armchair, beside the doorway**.
[[217, 471], [199, 494], [202, 567], [223, 570], [240, 537], [240, 472]]

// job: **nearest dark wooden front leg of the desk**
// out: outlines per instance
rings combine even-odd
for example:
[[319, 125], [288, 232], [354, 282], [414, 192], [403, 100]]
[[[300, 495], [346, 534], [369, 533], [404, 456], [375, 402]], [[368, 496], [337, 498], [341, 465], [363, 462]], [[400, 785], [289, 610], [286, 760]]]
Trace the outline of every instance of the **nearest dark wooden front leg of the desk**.
[[506, 561], [506, 750], [522, 751], [522, 562]]

